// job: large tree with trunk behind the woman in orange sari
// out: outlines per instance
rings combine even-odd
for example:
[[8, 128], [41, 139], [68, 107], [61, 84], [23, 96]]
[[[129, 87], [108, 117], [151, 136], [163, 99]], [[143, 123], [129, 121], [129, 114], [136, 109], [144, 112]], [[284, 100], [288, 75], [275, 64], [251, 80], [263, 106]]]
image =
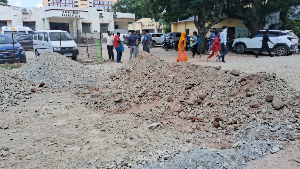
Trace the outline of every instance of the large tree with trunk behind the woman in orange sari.
[[175, 22], [193, 16], [198, 30], [200, 51], [204, 53], [205, 35], [215, 24], [222, 21], [224, 0], [150, 0], [152, 10], [163, 13], [164, 20]]

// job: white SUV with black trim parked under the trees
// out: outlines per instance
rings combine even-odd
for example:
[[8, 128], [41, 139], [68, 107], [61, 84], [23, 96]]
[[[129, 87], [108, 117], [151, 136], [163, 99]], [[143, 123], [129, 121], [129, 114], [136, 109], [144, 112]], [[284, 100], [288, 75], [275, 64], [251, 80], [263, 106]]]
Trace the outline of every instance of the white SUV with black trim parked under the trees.
[[[262, 37], [265, 30], [260, 30], [247, 38], [236, 38], [233, 41], [232, 49], [237, 54], [245, 51], [259, 51], [262, 46]], [[284, 56], [298, 51], [298, 37], [290, 30], [270, 30], [269, 39], [275, 44], [268, 42], [271, 52], [277, 56]]]

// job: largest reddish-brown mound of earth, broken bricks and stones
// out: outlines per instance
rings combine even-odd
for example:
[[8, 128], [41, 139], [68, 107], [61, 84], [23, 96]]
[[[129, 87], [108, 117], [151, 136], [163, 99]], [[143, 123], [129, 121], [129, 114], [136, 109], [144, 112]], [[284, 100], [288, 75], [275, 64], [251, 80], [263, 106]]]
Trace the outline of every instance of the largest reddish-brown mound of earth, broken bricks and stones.
[[[118, 113], [124, 109], [129, 112], [134, 105], [160, 100], [161, 104], [136, 114], [145, 119], [160, 119], [182, 133], [205, 131], [205, 128], [238, 131], [253, 114], [256, 119], [272, 123], [278, 116], [298, 109], [289, 106], [292, 102], [300, 103], [299, 92], [289, 87], [284, 79], [276, 78], [275, 74], [259, 72], [247, 75], [239, 70], [230, 72], [188, 62], [170, 64], [144, 52], [113, 72], [111, 78], [124, 86], [101, 94], [101, 97], [98, 97], [100, 94], [96, 98], [90, 97], [87, 105]], [[268, 94], [278, 98], [278, 110], [273, 106], [277, 103], [266, 102]], [[222, 120], [215, 120], [217, 116]]]

